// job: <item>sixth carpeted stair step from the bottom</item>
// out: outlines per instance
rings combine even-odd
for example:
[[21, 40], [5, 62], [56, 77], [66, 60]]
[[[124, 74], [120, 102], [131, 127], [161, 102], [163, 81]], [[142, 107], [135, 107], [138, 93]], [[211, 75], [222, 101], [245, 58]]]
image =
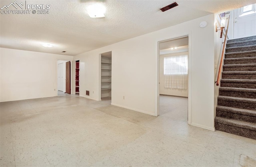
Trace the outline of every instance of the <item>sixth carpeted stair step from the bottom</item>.
[[222, 79], [256, 79], [256, 71], [223, 71]]

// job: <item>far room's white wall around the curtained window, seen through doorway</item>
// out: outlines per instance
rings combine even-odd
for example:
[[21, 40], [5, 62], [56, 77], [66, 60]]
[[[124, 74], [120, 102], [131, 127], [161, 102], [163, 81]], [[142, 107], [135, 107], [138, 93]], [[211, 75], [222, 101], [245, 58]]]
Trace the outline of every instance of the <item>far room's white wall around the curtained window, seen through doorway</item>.
[[188, 52], [172, 53], [159, 55], [159, 93], [172, 95], [172, 96], [182, 96], [188, 97], [188, 89], [173, 89], [164, 87], [164, 57], [188, 55]]

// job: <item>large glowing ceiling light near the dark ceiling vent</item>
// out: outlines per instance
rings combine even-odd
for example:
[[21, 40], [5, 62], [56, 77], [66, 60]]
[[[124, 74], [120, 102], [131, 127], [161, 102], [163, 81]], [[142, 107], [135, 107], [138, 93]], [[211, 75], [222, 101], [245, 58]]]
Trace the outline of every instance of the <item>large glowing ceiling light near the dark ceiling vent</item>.
[[102, 3], [93, 3], [87, 6], [86, 11], [91, 18], [103, 18], [106, 8]]

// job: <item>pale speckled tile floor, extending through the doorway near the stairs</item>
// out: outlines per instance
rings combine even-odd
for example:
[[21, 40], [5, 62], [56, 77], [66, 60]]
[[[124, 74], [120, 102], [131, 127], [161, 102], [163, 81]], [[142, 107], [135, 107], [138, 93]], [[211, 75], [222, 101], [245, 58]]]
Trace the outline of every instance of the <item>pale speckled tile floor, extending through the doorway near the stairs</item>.
[[256, 166], [256, 140], [188, 125], [180, 100], [161, 96], [158, 117], [76, 95], [2, 102], [0, 166]]

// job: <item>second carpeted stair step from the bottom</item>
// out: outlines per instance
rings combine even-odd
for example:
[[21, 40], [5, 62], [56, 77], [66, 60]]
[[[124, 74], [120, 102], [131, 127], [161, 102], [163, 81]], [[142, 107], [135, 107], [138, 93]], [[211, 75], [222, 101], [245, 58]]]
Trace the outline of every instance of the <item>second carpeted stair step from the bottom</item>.
[[217, 106], [216, 116], [256, 123], [256, 111], [227, 106]]

